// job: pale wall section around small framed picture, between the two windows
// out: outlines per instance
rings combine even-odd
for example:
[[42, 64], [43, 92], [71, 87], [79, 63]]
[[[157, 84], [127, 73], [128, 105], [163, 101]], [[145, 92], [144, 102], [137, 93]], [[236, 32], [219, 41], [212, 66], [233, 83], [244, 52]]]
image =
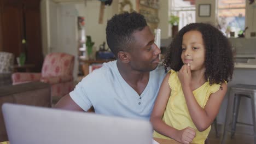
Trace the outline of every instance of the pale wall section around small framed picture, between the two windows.
[[[211, 4], [211, 16], [210, 17], [199, 17], [199, 4]], [[204, 22], [211, 23], [212, 25], [216, 25], [216, 0], [196, 0], [196, 22]]]

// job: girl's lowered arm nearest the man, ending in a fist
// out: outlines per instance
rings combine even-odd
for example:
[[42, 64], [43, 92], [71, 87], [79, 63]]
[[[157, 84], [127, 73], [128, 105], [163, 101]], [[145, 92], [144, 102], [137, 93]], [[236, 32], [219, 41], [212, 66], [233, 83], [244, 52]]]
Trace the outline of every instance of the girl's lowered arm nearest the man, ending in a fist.
[[165, 135], [167, 137], [171, 137], [172, 139], [179, 141], [181, 143], [190, 143], [195, 137], [194, 129], [187, 127], [183, 130], [177, 130], [175, 128], [170, 127], [164, 121], [162, 121], [162, 116], [164, 115], [167, 101], [171, 93], [171, 88], [168, 85], [169, 77], [170, 73], [168, 73], [165, 76], [165, 79], [162, 81], [158, 97], [156, 98], [154, 109], [150, 117], [150, 122], [152, 122], [154, 130], [158, 131], [158, 133]]

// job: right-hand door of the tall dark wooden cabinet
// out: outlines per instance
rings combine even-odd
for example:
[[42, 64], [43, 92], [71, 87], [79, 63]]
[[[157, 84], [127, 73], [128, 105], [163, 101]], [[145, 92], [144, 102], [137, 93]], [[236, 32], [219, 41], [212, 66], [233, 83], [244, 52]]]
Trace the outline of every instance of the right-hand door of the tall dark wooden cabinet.
[[23, 0], [25, 16], [25, 32], [27, 47], [27, 63], [34, 64], [34, 71], [41, 71], [43, 51], [41, 43], [40, 1]]

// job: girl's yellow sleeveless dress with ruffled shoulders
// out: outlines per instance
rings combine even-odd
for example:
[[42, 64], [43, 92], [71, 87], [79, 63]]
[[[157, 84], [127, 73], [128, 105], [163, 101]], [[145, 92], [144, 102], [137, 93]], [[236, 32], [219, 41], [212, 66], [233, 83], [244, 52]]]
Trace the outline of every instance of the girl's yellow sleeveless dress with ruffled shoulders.
[[[179, 82], [178, 79], [178, 73], [174, 70], [168, 71], [168, 73], [170, 72], [171, 74], [168, 79], [168, 83], [171, 88], [171, 95], [168, 99], [168, 103], [166, 105], [166, 110], [164, 112], [162, 120], [166, 124], [178, 130], [184, 129], [186, 127], [191, 127], [195, 129], [196, 136], [194, 137], [192, 143], [205, 143], [205, 140], [210, 133], [211, 126], [202, 132], [197, 130], [189, 115], [188, 107], [181, 87], [181, 82]], [[195, 89], [193, 91], [193, 94], [195, 95], [197, 103], [202, 108], [204, 108], [210, 95], [217, 92], [219, 88], [219, 84], [213, 84], [210, 86], [209, 82], [205, 82], [201, 87]], [[170, 139], [170, 137], [161, 135], [156, 131], [154, 131], [153, 136], [161, 139]]]

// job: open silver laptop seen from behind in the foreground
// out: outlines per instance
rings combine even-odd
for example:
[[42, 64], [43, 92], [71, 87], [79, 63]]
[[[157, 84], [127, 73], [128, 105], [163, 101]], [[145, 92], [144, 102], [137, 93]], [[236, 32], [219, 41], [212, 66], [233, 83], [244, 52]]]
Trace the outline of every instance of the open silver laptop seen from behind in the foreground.
[[2, 111], [11, 144], [153, 142], [148, 121], [17, 104]]

